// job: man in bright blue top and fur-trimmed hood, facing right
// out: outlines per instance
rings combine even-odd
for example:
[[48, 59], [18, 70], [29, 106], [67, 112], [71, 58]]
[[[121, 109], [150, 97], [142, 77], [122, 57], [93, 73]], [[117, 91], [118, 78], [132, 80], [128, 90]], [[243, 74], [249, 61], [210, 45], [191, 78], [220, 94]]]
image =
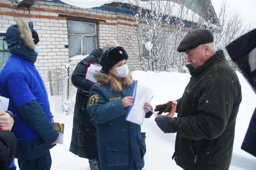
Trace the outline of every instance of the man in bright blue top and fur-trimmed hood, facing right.
[[33, 22], [17, 21], [6, 31], [5, 41], [12, 55], [0, 72], [0, 94], [9, 98], [17, 138], [14, 158], [20, 170], [50, 170], [50, 149], [59, 140], [52, 126], [52, 114], [44, 82], [37, 71], [39, 38]]

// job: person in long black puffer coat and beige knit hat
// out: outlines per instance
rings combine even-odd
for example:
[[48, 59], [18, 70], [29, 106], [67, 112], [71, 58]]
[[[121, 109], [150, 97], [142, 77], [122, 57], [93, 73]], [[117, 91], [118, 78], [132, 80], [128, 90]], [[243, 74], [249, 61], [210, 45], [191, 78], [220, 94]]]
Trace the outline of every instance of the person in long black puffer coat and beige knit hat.
[[90, 168], [95, 170], [100, 169], [98, 165], [99, 154], [97, 144], [97, 128], [96, 123], [92, 120], [89, 113], [86, 111], [90, 88], [95, 82], [85, 78], [87, 67], [91, 63], [99, 64], [102, 52], [110, 47], [116, 47], [118, 44], [114, 40], [109, 40], [103, 49], [97, 48], [90, 55], [81, 60], [72, 76], [71, 82], [77, 88], [76, 103], [74, 109], [73, 129], [69, 151], [78, 155], [81, 158], [89, 159]]

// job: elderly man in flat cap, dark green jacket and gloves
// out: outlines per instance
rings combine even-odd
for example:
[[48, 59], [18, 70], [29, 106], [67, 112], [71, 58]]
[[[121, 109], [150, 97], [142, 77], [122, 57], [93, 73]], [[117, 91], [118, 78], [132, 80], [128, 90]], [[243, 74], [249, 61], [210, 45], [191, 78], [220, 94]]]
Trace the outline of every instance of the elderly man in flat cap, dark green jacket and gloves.
[[[228, 169], [231, 162], [236, 115], [242, 100], [241, 85], [223, 50], [215, 51], [212, 33], [204, 28], [181, 40], [191, 78], [180, 99], [177, 117], [156, 118], [164, 133], [175, 133], [172, 156], [183, 169]], [[156, 106], [169, 112], [172, 101]]]

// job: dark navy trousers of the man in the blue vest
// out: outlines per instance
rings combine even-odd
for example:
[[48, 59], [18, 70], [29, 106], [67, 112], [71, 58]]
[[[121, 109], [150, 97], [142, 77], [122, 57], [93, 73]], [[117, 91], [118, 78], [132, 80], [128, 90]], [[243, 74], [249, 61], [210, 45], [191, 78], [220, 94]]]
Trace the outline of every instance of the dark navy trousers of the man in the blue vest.
[[18, 165], [20, 170], [50, 170], [52, 166], [50, 150], [36, 159], [18, 159]]

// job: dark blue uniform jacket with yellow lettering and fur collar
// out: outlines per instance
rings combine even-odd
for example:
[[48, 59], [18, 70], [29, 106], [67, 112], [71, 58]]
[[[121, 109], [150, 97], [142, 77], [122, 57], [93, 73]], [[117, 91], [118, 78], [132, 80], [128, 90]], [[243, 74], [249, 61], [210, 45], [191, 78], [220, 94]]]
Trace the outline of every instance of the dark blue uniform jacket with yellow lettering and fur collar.
[[[141, 170], [146, 153], [145, 133], [140, 125], [124, 120], [126, 108], [122, 99], [130, 96], [134, 82], [121, 93], [110, 90], [110, 78], [102, 70], [94, 75], [97, 81], [90, 89], [87, 111], [97, 123], [100, 166], [104, 170]], [[148, 112], [146, 118], [153, 113]]]

